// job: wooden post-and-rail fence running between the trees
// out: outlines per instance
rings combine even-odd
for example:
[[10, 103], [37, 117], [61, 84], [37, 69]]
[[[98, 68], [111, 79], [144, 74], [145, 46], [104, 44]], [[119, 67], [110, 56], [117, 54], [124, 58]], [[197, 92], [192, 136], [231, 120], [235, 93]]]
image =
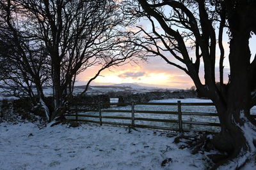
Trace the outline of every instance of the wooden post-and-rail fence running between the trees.
[[[109, 104], [109, 103], [108, 103]], [[83, 105], [83, 104], [82, 104]], [[93, 122], [97, 124], [113, 124], [113, 125], [125, 125], [125, 126], [131, 126], [131, 127], [145, 127], [150, 129], [162, 129], [162, 130], [171, 130], [171, 131], [179, 131], [183, 132], [183, 125], [189, 124], [189, 125], [208, 125], [208, 126], [215, 126], [220, 127], [219, 123], [214, 122], [196, 122], [196, 121], [188, 121], [188, 120], [182, 120], [182, 116], [206, 116], [206, 117], [218, 117], [217, 113], [202, 113], [202, 112], [185, 112], [182, 111], [182, 106], [214, 106], [212, 103], [181, 103], [178, 101], [177, 103], [110, 103], [110, 105], [115, 106], [131, 106], [131, 110], [109, 110], [109, 109], [102, 109], [102, 103], [99, 103], [99, 106], [96, 110], [88, 110], [88, 109], [79, 109], [78, 106], [81, 106], [81, 104], [78, 104], [78, 106], [75, 106], [75, 108], [70, 108], [67, 111], [73, 112], [72, 114], [67, 113], [65, 114], [66, 117], [73, 117], [68, 118], [68, 120], [74, 120], [74, 121], [81, 121], [81, 122]], [[135, 105], [157, 105], [157, 106], [177, 106], [177, 111], [145, 111], [145, 110], [135, 110]], [[111, 109], [111, 108], [110, 108]], [[99, 113], [99, 115], [86, 115], [84, 113], [88, 111], [93, 111]], [[83, 113], [79, 114], [79, 113]], [[131, 114], [130, 117], [115, 117], [115, 116], [105, 116], [102, 115], [102, 113], [129, 113]], [[136, 117], [136, 113], [147, 113], [147, 114], [160, 114], [160, 115], [177, 115], [177, 120], [174, 119], [159, 119], [159, 118], [141, 118]], [[254, 118], [256, 118], [256, 115], [252, 115]], [[83, 120], [79, 119], [79, 117], [86, 117], [86, 118], [99, 118], [99, 120]], [[130, 120], [130, 124], [125, 124], [121, 122], [105, 122], [102, 121], [102, 118], [104, 119], [114, 119], [114, 120]], [[150, 122], [166, 122], [166, 123], [175, 123], [178, 124], [179, 129], [173, 129], [170, 127], [159, 127], [155, 125], [141, 125], [141, 124], [135, 124], [136, 120], [142, 120], [142, 121], [150, 121]]]

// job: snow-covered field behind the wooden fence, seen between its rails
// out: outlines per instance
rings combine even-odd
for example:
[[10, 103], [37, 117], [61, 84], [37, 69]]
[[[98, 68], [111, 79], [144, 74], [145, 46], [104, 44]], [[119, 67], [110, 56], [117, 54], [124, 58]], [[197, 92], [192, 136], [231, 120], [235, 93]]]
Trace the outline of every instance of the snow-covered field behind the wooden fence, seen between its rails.
[[[177, 103], [177, 101], [181, 101], [181, 103], [211, 103], [211, 100], [207, 99], [163, 99], [163, 100], [154, 100], [150, 101], [150, 103]], [[114, 107], [109, 108], [107, 110], [131, 110], [131, 106], [125, 107]], [[135, 110], [140, 111], [177, 111], [177, 106], [156, 106], [156, 105], [136, 105]], [[214, 106], [182, 106], [182, 112], [200, 112], [200, 113], [216, 113], [216, 109]], [[252, 114], [256, 115], [256, 107], [253, 107], [251, 110]], [[99, 112], [86, 112], [80, 113], [82, 115], [99, 115]], [[115, 116], [115, 117], [131, 117], [131, 113], [108, 113], [102, 111], [102, 116]], [[74, 117], [70, 117], [74, 118]], [[135, 118], [157, 118], [157, 119], [165, 119], [165, 120], [178, 120], [177, 115], [159, 115], [159, 114], [145, 114], [145, 113], [135, 113]], [[94, 120], [99, 121], [99, 118], [85, 118], [79, 117], [79, 119], [83, 120]], [[183, 121], [191, 121], [191, 122], [209, 122], [209, 123], [220, 123], [218, 117], [209, 117], [209, 116], [190, 116], [190, 115], [182, 115]], [[131, 120], [113, 120], [102, 118], [104, 122], [121, 122], [124, 124], [131, 124]], [[178, 129], [178, 124], [176, 123], [168, 123], [168, 122], [149, 122], [143, 120], [135, 120], [135, 124], [138, 125], [155, 125], [159, 127], [168, 127], [170, 129]], [[209, 125], [189, 125], [183, 124], [183, 129], [186, 131], [212, 131], [218, 132], [220, 131], [220, 127], [214, 127]]]

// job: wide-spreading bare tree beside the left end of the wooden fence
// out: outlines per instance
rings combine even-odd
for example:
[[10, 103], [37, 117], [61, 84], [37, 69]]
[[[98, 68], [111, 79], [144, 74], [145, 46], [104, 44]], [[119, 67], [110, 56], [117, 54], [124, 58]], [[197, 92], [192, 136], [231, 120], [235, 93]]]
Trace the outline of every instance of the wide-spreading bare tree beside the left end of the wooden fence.
[[9, 27], [19, 25], [20, 38], [44, 46], [47, 53], [54, 97], [51, 120], [62, 114], [77, 74], [101, 66], [88, 87], [102, 70], [122, 64], [134, 53], [118, 42], [129, 20], [114, 0], [8, 0], [5, 4], [15, 8], [9, 15], [18, 18]]

